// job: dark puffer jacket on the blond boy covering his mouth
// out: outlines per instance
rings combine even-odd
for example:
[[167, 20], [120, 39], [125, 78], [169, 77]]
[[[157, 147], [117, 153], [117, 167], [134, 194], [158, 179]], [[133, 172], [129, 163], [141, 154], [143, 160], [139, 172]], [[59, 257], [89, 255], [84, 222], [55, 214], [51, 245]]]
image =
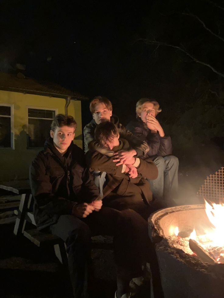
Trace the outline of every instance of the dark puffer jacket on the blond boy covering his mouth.
[[170, 136], [160, 137], [159, 133], [152, 133], [145, 122], [140, 117], [131, 121], [126, 126], [141, 141], [147, 142], [149, 151], [147, 155], [151, 158], [156, 156], [166, 156], [172, 154], [172, 144]]

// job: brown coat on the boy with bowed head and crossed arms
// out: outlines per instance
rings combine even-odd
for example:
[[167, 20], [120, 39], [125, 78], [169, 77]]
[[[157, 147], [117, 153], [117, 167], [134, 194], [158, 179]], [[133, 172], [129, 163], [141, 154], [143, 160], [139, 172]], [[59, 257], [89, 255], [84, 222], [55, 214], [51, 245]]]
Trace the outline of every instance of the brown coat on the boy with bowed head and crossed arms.
[[152, 192], [147, 179], [154, 180], [158, 176], [158, 169], [148, 157], [140, 159], [140, 165], [137, 168], [138, 176], [130, 178], [127, 174], [121, 173], [122, 165], [116, 166], [113, 157], [103, 155], [99, 152], [93, 152], [87, 155], [87, 163], [90, 171], [101, 171], [107, 173], [107, 185], [103, 189], [103, 197], [108, 196], [111, 192], [116, 193], [119, 197], [130, 193], [131, 189], [139, 188], [148, 204], [152, 200]]

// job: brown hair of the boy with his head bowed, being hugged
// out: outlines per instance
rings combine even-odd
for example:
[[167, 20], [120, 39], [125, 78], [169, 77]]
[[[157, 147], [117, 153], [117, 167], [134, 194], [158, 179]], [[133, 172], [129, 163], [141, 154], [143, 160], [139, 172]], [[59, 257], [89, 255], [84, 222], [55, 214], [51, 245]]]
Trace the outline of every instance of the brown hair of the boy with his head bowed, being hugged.
[[112, 142], [114, 138], [118, 138], [119, 132], [117, 126], [111, 122], [106, 121], [98, 124], [95, 129], [95, 140], [99, 144], [107, 144]]

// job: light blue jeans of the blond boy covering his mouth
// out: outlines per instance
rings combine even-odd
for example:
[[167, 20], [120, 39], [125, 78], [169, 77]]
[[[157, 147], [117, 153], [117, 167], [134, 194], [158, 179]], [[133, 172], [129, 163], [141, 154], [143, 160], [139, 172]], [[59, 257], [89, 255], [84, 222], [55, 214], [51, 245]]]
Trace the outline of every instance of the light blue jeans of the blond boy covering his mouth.
[[153, 199], [169, 206], [178, 194], [179, 160], [173, 155], [157, 156], [152, 160], [159, 172], [155, 180], [149, 180]]

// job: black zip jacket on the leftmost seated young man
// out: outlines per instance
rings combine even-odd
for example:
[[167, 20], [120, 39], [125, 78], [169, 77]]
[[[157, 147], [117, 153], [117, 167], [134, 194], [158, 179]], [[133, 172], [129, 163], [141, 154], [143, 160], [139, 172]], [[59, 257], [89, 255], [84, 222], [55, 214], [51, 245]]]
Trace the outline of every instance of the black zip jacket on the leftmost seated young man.
[[62, 214], [71, 214], [75, 204], [91, 203], [99, 196], [82, 149], [72, 142], [62, 156], [51, 138], [30, 166], [30, 185], [38, 229], [54, 224]]

